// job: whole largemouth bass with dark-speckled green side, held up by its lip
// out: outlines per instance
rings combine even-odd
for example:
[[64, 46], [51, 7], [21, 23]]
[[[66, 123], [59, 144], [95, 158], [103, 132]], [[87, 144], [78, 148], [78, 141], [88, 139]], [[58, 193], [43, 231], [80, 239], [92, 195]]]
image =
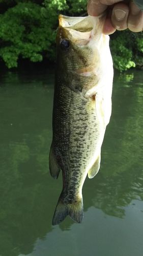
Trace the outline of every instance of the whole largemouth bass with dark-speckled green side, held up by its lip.
[[105, 18], [59, 16], [49, 170], [54, 179], [62, 170], [63, 189], [52, 225], [82, 222], [82, 186], [100, 168], [113, 80]]

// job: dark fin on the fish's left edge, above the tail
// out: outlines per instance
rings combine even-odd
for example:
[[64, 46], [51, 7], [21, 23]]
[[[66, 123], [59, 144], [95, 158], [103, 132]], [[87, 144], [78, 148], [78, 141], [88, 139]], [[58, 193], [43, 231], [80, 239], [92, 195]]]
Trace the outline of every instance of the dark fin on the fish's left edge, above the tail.
[[51, 143], [50, 154], [49, 154], [49, 169], [50, 169], [51, 176], [54, 179], [58, 179], [58, 176], [60, 173], [60, 166], [55, 157], [53, 142]]

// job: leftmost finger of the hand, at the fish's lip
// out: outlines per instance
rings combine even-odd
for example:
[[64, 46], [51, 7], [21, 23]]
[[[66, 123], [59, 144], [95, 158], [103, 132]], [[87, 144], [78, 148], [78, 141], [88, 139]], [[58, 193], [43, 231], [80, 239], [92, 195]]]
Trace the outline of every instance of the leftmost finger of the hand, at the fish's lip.
[[91, 16], [99, 16], [109, 5], [113, 5], [121, 1], [123, 0], [89, 0], [87, 6], [88, 14]]

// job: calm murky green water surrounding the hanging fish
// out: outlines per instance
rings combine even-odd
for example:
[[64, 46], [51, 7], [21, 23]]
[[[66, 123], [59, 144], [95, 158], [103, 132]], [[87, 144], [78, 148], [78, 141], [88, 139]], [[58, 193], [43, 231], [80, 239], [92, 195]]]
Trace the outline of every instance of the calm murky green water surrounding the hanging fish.
[[0, 255], [142, 256], [142, 72], [116, 75], [98, 175], [84, 219], [52, 226], [62, 177], [49, 175], [53, 75], [5, 73], [0, 86]]

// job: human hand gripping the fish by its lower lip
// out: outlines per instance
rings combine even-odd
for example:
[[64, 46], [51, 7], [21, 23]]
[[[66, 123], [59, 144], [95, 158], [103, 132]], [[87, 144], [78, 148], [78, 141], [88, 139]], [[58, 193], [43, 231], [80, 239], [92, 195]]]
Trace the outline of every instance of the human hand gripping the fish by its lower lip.
[[99, 16], [106, 11], [103, 27], [104, 34], [112, 34], [117, 30], [129, 29], [140, 32], [143, 28], [143, 11], [131, 0], [89, 0], [88, 14]]

